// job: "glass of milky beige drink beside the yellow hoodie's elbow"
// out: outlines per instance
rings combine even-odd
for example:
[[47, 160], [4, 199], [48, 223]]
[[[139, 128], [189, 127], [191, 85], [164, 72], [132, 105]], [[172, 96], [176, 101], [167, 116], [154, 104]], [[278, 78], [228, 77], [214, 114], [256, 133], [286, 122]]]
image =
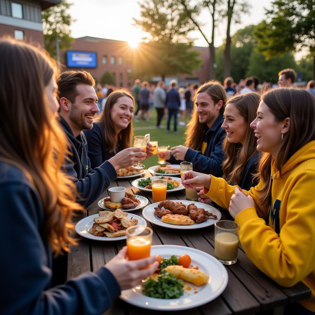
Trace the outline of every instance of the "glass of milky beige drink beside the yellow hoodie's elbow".
[[239, 225], [234, 221], [215, 222], [215, 257], [224, 265], [237, 261]]

